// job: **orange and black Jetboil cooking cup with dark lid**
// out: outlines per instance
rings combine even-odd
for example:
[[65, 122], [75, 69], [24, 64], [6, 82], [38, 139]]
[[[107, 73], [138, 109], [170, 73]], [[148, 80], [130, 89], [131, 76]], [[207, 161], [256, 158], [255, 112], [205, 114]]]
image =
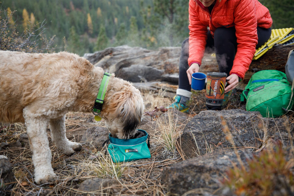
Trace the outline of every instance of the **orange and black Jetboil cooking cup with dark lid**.
[[206, 83], [206, 108], [221, 110], [225, 95], [226, 73], [208, 72]]

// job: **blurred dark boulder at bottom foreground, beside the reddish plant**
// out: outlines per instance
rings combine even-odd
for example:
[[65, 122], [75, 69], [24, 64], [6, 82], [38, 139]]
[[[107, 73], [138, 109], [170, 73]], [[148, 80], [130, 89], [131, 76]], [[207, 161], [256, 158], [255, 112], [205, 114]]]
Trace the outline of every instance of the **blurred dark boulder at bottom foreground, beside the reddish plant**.
[[[243, 164], [253, 155], [251, 152], [238, 151], [237, 153]], [[233, 164], [240, 166], [233, 149], [217, 149], [213, 153], [178, 162], [171, 167], [164, 167], [161, 180], [175, 195], [201, 188], [209, 189], [212, 193], [221, 187], [220, 180], [226, 175], [226, 171], [233, 168]], [[191, 191], [189, 195], [196, 194]]]

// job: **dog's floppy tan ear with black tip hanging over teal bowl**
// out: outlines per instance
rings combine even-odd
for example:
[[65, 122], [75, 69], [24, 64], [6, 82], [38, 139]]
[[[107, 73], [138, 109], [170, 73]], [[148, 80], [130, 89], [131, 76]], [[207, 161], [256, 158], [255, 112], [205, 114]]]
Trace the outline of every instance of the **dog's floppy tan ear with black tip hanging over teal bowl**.
[[141, 123], [144, 110], [143, 99], [137, 96], [129, 98], [123, 105], [123, 138], [129, 139], [136, 134], [136, 129]]

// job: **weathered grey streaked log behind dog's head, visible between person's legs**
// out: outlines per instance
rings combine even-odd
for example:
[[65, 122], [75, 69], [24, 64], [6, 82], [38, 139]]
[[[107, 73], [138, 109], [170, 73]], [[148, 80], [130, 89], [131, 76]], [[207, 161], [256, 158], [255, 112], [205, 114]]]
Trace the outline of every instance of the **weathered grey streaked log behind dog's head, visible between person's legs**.
[[[178, 66], [181, 47], [161, 47], [148, 50], [127, 45], [110, 47], [95, 53], [86, 53], [94, 66], [130, 82], [166, 81], [178, 83]], [[203, 57], [201, 72], [217, 72], [216, 58], [206, 53]]]

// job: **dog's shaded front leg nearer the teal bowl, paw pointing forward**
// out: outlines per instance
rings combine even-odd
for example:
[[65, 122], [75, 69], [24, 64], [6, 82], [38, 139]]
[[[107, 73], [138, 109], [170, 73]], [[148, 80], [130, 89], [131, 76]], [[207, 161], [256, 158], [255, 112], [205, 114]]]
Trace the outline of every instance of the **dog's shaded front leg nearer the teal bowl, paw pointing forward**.
[[65, 135], [65, 116], [58, 119], [50, 119], [49, 128], [51, 130], [52, 140], [56, 147], [66, 155], [71, 155], [75, 151], [81, 150], [82, 145], [77, 142], [71, 142]]

